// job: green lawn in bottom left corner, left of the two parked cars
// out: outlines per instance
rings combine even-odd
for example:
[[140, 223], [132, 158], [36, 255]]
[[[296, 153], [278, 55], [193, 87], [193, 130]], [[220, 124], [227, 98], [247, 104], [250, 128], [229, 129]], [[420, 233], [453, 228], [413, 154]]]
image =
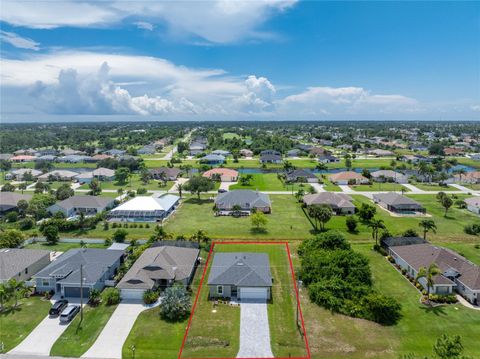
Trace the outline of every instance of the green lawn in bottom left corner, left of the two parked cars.
[[48, 315], [51, 304], [40, 296], [20, 299], [18, 307], [0, 312], [0, 342], [4, 351], [16, 347]]

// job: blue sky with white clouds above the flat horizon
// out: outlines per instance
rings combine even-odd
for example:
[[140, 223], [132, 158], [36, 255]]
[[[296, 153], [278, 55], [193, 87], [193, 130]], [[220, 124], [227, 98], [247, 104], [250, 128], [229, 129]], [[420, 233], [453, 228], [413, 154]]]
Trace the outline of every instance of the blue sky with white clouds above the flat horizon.
[[0, 3], [0, 121], [480, 120], [477, 1]]

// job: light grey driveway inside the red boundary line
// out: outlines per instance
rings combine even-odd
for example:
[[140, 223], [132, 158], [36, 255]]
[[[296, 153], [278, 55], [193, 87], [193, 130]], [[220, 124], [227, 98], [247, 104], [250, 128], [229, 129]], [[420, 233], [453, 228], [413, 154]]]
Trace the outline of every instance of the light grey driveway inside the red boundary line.
[[273, 357], [267, 303], [243, 300], [240, 303], [240, 350], [237, 358]]

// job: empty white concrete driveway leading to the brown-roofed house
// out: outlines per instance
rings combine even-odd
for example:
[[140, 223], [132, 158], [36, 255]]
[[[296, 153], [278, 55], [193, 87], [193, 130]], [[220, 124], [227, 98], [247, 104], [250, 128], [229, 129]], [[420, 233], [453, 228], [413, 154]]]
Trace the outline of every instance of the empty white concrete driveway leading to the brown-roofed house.
[[82, 358], [121, 359], [122, 348], [133, 328], [138, 315], [154, 305], [145, 305], [141, 301], [122, 301], [113, 312], [102, 332]]

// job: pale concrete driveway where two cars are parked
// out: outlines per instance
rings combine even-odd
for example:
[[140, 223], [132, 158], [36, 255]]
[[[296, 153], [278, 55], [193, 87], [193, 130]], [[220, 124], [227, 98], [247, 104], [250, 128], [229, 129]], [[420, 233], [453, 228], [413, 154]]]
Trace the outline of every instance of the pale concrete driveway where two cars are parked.
[[[69, 304], [79, 305], [79, 298], [66, 299]], [[55, 300], [52, 299], [51, 302], [53, 303]], [[80, 313], [77, 315], [80, 315]], [[13, 348], [9, 354], [49, 356], [53, 344], [55, 344], [70, 324], [71, 322], [60, 324], [58, 317], [47, 316], [20, 344]]]

